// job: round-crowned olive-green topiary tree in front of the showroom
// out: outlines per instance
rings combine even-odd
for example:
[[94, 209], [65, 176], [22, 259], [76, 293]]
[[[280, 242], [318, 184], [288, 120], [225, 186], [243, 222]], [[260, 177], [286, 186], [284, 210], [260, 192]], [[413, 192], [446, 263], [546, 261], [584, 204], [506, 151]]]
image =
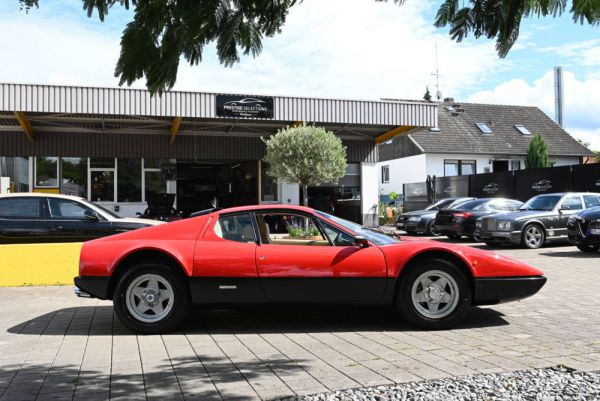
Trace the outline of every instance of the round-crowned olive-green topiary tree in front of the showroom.
[[302, 187], [308, 205], [308, 186], [336, 182], [346, 173], [346, 147], [324, 128], [302, 125], [279, 130], [265, 140], [267, 174]]

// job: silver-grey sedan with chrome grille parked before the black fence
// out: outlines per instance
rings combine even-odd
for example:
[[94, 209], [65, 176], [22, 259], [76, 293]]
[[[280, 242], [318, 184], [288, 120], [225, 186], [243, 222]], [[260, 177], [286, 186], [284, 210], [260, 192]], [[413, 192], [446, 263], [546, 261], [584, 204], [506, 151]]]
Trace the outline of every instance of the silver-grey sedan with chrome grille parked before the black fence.
[[598, 202], [598, 193], [566, 192], [534, 196], [518, 211], [477, 221], [477, 235], [490, 246], [515, 244], [536, 249], [567, 241], [571, 216]]

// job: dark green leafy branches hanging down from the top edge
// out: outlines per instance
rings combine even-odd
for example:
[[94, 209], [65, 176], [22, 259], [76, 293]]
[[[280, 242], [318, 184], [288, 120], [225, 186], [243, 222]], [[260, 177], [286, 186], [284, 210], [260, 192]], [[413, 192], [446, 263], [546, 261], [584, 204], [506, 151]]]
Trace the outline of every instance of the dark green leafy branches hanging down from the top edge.
[[[133, 21], [121, 37], [115, 67], [120, 84], [145, 78], [152, 93], [173, 87], [181, 56], [191, 65], [202, 61], [204, 47], [215, 42], [219, 61], [232, 66], [240, 52], [253, 57], [262, 51], [265, 36], [281, 32], [290, 8], [301, 0], [81, 0], [88, 16], [100, 21], [111, 7], [135, 8]], [[387, 0], [376, 0], [387, 1]], [[406, 0], [394, 0], [403, 4]], [[18, 0], [21, 9], [38, 7], [39, 0]], [[435, 26], [450, 27], [457, 42], [469, 33], [496, 39], [505, 57], [519, 37], [523, 18], [557, 17], [567, 6], [573, 20], [600, 25], [600, 0], [444, 0]]]

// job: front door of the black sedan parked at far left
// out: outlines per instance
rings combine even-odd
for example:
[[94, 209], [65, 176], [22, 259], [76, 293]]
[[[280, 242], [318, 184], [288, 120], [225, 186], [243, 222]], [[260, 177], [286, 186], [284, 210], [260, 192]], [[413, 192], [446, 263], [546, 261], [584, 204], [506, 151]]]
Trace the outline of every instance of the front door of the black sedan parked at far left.
[[[79, 242], [115, 234], [112, 224], [94, 210], [72, 199], [48, 197], [48, 238], [51, 242]], [[93, 212], [98, 218], [86, 217]]]

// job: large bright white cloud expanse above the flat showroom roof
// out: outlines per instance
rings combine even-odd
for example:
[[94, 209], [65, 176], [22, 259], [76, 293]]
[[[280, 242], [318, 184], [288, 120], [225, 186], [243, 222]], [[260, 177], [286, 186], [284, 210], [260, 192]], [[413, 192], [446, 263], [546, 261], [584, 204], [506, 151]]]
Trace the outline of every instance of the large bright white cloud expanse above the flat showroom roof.
[[[10, 62], [0, 64], [0, 81], [115, 86], [120, 29], [56, 11], [44, 15], [49, 3], [30, 15], [0, 13], [0, 50], [10, 55]], [[182, 62], [176, 89], [421, 98], [426, 85], [434, 91], [436, 40], [447, 95], [478, 87], [510, 66], [498, 60], [490, 42], [456, 44], [436, 31], [424, 18], [433, 6], [420, 0], [402, 7], [391, 1], [305, 0], [291, 10], [282, 34], [264, 40], [257, 59], [244, 57], [224, 68], [209, 47], [200, 66]]]

